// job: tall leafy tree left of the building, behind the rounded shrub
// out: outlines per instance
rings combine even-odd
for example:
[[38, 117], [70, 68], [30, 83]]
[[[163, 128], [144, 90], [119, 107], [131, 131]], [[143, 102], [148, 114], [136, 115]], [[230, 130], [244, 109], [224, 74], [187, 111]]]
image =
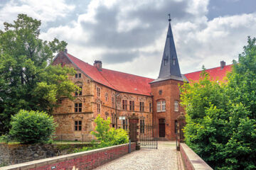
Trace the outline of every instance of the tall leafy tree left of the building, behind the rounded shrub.
[[41, 40], [40, 26], [41, 21], [18, 14], [0, 30], [0, 135], [9, 131], [11, 115], [20, 109], [50, 113], [59, 96], [72, 99], [75, 91], [68, 80], [74, 69], [50, 65], [67, 43]]

